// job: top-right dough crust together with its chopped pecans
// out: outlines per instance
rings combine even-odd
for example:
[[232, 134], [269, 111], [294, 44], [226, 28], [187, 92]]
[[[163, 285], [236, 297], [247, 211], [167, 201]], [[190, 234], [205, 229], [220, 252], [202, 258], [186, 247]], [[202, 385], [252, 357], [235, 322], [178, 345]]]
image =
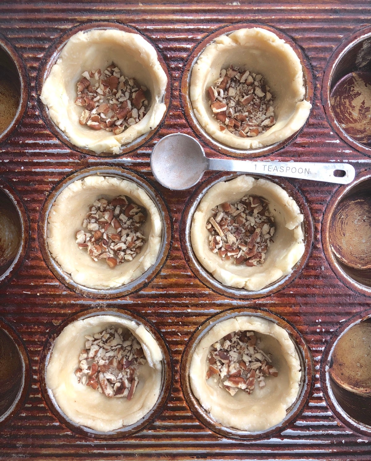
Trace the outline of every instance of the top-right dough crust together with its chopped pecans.
[[212, 141], [233, 149], [290, 139], [311, 109], [302, 56], [265, 28], [220, 34], [189, 70], [189, 100], [198, 124]]

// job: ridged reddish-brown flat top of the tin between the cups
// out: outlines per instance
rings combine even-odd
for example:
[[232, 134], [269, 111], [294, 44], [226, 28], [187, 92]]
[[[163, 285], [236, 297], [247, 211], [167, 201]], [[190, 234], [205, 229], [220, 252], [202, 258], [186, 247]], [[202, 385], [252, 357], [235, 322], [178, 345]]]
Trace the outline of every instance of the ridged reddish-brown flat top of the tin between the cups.
[[[179, 95], [183, 67], [194, 47], [225, 25], [254, 22], [290, 35], [306, 54], [313, 73], [313, 109], [308, 122], [299, 136], [269, 158], [350, 160], [358, 173], [369, 169], [370, 157], [349, 147], [330, 127], [321, 103], [321, 83], [335, 48], [370, 20], [369, 1], [303, 1], [300, 5], [250, 1], [163, 5], [147, 1], [2, 2], [0, 33], [24, 61], [29, 100], [18, 127], [0, 144], [0, 177], [23, 201], [30, 235], [22, 265], [10, 281], [0, 285], [0, 316], [24, 341], [31, 368], [23, 406], [0, 426], [0, 459], [370, 460], [370, 435], [339, 419], [323, 390], [323, 351], [333, 331], [357, 313], [371, 313], [370, 297], [337, 279], [324, 256], [321, 223], [338, 186], [291, 181], [312, 213], [310, 258], [300, 275], [272, 296], [234, 299], [207, 288], [184, 259], [179, 225], [190, 191], [161, 188], [149, 168], [153, 142], [178, 130], [194, 135], [184, 118]], [[45, 53], [64, 32], [91, 21], [117, 21], [146, 35], [161, 53], [171, 76], [171, 104], [160, 130], [139, 150], [117, 158], [70, 150], [51, 134], [40, 115], [36, 83]], [[218, 156], [212, 148], [204, 147], [206, 154]], [[50, 190], [74, 171], [107, 164], [147, 177], [167, 203], [173, 226], [170, 253], [161, 272], [139, 292], [109, 302], [84, 298], [61, 284], [42, 259], [37, 236], [40, 212]], [[59, 423], [41, 396], [38, 375], [41, 351], [56, 325], [88, 307], [109, 306], [132, 310], [152, 321], [169, 345], [174, 367], [171, 395], [163, 412], [139, 433], [112, 441], [82, 437]], [[293, 324], [312, 351], [316, 373], [299, 416], [271, 438], [252, 441], [219, 436], [196, 420], [185, 403], [179, 378], [184, 347], [200, 323], [228, 307], [244, 306], [268, 309]]]

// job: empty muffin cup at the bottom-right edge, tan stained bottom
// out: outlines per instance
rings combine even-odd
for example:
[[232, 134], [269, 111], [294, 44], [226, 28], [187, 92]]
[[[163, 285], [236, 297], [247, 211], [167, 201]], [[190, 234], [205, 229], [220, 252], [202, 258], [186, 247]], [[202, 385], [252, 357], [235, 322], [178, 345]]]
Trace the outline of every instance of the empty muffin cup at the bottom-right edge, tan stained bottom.
[[347, 421], [365, 431], [371, 431], [370, 357], [370, 319], [353, 323], [340, 335], [336, 332], [328, 367], [330, 399]]

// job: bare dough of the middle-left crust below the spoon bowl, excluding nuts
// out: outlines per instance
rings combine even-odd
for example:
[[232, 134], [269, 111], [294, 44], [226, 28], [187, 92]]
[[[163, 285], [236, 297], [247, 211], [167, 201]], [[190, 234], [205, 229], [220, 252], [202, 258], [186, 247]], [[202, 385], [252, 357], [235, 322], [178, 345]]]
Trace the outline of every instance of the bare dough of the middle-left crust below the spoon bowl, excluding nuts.
[[[76, 232], [82, 229], [82, 220], [95, 200], [103, 196], [110, 201], [118, 195], [126, 195], [146, 208], [146, 243], [132, 261], [111, 269], [105, 260], [94, 261], [77, 246]], [[135, 183], [117, 177], [88, 176], [74, 181], [58, 195], [48, 216], [50, 253], [77, 284], [89, 288], [115, 288], [140, 277], [155, 263], [161, 240], [162, 221], [152, 199]]]

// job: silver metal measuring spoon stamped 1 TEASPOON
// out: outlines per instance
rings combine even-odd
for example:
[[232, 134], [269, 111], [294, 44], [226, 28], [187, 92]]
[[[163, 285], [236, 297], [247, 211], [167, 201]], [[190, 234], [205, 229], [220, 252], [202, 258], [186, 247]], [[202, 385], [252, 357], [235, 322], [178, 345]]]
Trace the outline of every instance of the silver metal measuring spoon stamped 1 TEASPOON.
[[206, 170], [241, 171], [336, 184], [351, 183], [355, 176], [353, 166], [347, 163], [209, 159], [200, 143], [183, 133], [164, 136], [157, 142], [150, 163], [155, 179], [173, 190], [194, 186]]

